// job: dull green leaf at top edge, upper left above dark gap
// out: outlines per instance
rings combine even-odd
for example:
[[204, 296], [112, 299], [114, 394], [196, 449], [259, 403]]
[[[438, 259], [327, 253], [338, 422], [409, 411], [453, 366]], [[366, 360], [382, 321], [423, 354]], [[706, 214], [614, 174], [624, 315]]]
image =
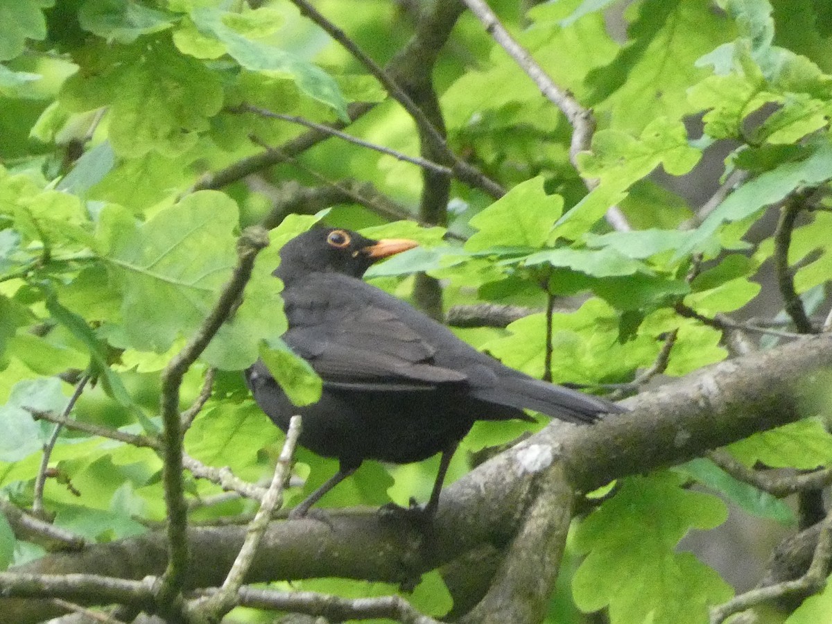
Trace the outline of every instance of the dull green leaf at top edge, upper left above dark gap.
[[87, 0], [78, 11], [84, 30], [107, 42], [132, 43], [141, 35], [170, 28], [175, 17], [133, 0]]

